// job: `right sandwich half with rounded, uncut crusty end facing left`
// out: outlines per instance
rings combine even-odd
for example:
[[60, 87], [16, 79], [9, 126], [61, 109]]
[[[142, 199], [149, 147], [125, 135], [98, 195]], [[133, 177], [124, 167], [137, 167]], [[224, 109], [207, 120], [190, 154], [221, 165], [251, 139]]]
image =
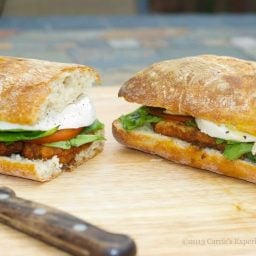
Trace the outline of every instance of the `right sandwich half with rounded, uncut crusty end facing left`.
[[142, 106], [112, 125], [120, 143], [256, 183], [256, 63], [201, 55], [153, 64], [120, 89]]

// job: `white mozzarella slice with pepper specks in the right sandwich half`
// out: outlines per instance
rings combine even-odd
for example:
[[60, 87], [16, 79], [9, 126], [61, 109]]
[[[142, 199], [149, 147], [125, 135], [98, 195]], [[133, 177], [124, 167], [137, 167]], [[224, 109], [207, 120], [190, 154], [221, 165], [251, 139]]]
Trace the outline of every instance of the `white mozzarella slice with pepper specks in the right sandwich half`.
[[233, 140], [239, 142], [256, 142], [256, 137], [245, 132], [236, 131], [228, 128], [224, 124], [215, 124], [204, 119], [195, 119], [196, 124], [201, 132], [214, 138], [224, 140]]

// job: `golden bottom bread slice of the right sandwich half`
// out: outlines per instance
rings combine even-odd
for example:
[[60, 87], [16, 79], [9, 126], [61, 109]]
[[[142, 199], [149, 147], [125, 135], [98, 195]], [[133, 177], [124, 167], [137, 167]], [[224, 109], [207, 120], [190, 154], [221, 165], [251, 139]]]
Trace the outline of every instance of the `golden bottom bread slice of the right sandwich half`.
[[119, 120], [113, 122], [112, 132], [118, 142], [129, 148], [155, 154], [175, 163], [256, 183], [256, 164], [247, 160], [231, 161], [218, 150], [200, 148], [150, 129], [139, 128], [128, 132], [123, 129]]

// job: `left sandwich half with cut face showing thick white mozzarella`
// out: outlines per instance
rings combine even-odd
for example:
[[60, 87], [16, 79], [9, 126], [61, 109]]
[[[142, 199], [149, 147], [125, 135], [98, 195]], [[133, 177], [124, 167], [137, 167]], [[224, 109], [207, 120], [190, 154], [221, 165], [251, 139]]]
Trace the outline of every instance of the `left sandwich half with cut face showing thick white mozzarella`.
[[0, 173], [47, 181], [103, 149], [87, 66], [0, 57]]

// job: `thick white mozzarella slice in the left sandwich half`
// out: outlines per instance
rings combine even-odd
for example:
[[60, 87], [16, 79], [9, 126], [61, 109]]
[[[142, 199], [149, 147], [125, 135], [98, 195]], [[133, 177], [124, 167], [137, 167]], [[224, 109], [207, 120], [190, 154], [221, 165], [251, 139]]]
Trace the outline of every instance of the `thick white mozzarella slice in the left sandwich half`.
[[45, 119], [35, 125], [20, 125], [0, 121], [0, 130], [24, 129], [46, 131], [59, 126], [59, 129], [79, 128], [91, 125], [96, 119], [94, 107], [88, 97], [67, 105], [59, 113], [50, 112]]

